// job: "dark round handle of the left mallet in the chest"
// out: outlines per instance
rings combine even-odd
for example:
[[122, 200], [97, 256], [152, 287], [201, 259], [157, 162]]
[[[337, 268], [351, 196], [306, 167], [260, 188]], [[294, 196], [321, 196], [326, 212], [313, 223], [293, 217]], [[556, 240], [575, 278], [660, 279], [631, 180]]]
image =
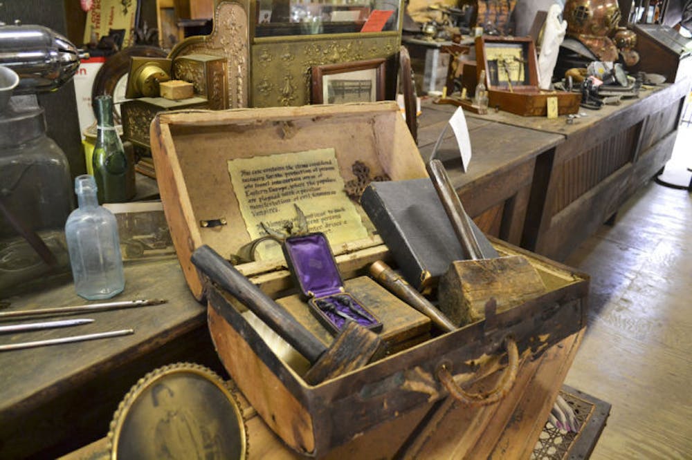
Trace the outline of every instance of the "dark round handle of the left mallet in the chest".
[[203, 245], [192, 253], [191, 260], [199, 271], [233, 294], [310, 363], [315, 363], [320, 355], [327, 351], [327, 347], [288, 314], [284, 307], [253, 285], [214, 249]]

